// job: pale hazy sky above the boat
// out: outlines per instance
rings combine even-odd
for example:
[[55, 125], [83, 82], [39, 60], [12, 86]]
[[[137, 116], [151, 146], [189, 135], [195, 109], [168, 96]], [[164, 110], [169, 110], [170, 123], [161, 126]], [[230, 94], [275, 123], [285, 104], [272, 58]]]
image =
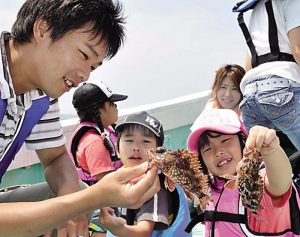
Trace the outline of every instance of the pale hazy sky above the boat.
[[[234, 0], [121, 0], [126, 41], [91, 75], [129, 97], [128, 108], [210, 89], [217, 68], [243, 65], [246, 44], [231, 9]], [[0, 0], [0, 29], [9, 30], [23, 0]], [[61, 99], [74, 113], [72, 91]], [[67, 106], [64, 106], [67, 105]]]

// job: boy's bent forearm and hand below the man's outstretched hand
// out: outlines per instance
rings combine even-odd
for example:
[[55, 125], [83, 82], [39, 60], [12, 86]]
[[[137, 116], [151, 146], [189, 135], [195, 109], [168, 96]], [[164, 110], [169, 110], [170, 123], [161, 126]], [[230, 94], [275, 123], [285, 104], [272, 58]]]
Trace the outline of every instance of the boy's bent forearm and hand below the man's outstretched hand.
[[101, 209], [99, 222], [112, 234], [119, 237], [147, 237], [151, 236], [154, 228], [153, 221], [139, 221], [136, 225], [127, 225], [122, 217], [112, 216], [112, 209]]

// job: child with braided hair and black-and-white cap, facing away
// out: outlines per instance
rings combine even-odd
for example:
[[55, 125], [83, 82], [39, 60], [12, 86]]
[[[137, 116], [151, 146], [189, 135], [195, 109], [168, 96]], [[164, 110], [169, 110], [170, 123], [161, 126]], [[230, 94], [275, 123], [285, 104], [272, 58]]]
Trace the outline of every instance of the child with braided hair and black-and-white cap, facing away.
[[[80, 124], [72, 134], [69, 155], [74, 161], [79, 178], [88, 185], [95, 184], [121, 165], [114, 144], [116, 134], [113, 125], [118, 120], [116, 102], [127, 95], [115, 94], [103, 82], [93, 80], [83, 83], [73, 94], [73, 106]], [[89, 224], [91, 236], [104, 236], [98, 225], [99, 211]]]

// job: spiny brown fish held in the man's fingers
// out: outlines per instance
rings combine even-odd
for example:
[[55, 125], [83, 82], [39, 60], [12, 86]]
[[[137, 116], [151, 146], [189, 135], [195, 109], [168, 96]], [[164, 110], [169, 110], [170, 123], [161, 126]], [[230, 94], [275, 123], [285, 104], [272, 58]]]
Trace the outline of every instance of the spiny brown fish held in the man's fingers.
[[158, 147], [148, 151], [148, 159], [149, 162], [157, 164], [166, 176], [165, 187], [170, 191], [174, 191], [176, 183], [179, 184], [188, 199], [199, 199], [202, 210], [212, 201], [208, 191], [208, 177], [203, 174], [195, 153], [184, 149], [172, 151]]

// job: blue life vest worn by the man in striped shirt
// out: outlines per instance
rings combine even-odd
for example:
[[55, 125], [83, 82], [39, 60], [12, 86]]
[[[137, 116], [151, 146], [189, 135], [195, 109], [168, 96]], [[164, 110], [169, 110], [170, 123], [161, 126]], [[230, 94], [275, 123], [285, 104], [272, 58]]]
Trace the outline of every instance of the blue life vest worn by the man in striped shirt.
[[[24, 111], [19, 120], [18, 128], [14, 134], [10, 144], [5, 148], [4, 153], [0, 157], [0, 180], [6, 172], [8, 166], [15, 158], [18, 151], [25, 142], [26, 137], [31, 132], [32, 128], [40, 121], [43, 115], [48, 111], [50, 98], [48, 96], [38, 98], [32, 101], [31, 107]], [[2, 99], [0, 95], [0, 123], [3, 122], [3, 117], [7, 107], [7, 100]]]

